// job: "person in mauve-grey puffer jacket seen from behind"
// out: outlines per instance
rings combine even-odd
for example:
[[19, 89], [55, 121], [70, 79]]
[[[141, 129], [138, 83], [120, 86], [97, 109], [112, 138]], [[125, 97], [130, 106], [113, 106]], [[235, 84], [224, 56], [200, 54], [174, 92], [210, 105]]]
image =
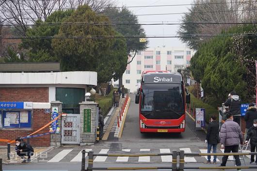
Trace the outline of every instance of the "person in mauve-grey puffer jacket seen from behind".
[[[243, 134], [238, 123], [233, 121], [233, 114], [228, 112], [226, 114], [226, 121], [221, 127], [221, 148], [224, 149], [224, 153], [238, 153], [239, 144], [243, 144]], [[241, 166], [239, 155], [234, 155], [236, 160], [236, 166]], [[228, 155], [224, 155], [222, 158], [221, 166], [226, 166]], [[241, 171], [241, 169], [238, 169]]]

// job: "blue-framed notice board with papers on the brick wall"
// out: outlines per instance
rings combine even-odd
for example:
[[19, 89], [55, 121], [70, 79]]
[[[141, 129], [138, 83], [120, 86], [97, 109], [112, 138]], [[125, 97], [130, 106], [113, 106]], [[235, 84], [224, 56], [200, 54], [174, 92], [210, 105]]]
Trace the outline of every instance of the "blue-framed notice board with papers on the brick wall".
[[1, 125], [4, 128], [31, 128], [31, 111], [2, 111]]

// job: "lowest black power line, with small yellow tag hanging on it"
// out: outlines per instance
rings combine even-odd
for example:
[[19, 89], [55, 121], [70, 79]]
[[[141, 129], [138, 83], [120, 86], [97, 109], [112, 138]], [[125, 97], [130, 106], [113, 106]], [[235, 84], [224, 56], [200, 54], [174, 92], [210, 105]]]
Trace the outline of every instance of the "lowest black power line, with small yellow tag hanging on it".
[[188, 34], [185, 36], [144, 36], [144, 35], [130, 35], [130, 36], [115, 36], [115, 35], [105, 35], [105, 36], [10, 36], [1, 37], [0, 39], [124, 39], [124, 38], [182, 38], [182, 37], [231, 37], [231, 36], [257, 36], [257, 33], [227, 33], [227, 34]]

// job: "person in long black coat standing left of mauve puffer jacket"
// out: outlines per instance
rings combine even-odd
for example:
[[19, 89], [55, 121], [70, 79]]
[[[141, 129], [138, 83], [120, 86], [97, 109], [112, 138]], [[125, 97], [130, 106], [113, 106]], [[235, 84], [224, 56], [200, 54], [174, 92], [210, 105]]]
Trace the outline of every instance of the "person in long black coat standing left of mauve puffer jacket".
[[[210, 123], [208, 126], [207, 130], [207, 135], [206, 135], [206, 140], [205, 142], [208, 143], [208, 149], [207, 153], [210, 153], [211, 147], [213, 148], [213, 153], [217, 153], [217, 145], [219, 143], [219, 128], [220, 124], [218, 121], [216, 121], [217, 117], [216, 116], [211, 116], [210, 117]], [[213, 157], [213, 164], [217, 163], [217, 156], [214, 155]], [[208, 160], [207, 162], [210, 164], [210, 155], [208, 155]]]

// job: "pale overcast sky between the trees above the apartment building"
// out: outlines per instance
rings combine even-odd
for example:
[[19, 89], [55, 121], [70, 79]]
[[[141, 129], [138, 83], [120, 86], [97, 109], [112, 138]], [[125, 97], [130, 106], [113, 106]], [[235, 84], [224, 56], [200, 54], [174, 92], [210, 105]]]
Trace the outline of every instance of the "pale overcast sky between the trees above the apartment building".
[[[116, 0], [117, 6], [146, 6], [146, 5], [173, 5], [190, 4], [193, 0]], [[135, 15], [141, 14], [163, 14], [163, 13], [186, 13], [190, 6], [165, 6], [165, 7], [139, 7], [128, 8]], [[138, 16], [139, 23], [154, 22], [180, 22], [183, 15], [161, 15], [161, 16]], [[143, 25], [147, 36], [173, 36], [177, 34], [179, 25]], [[178, 38], [149, 38], [148, 47], [180, 47], [186, 46]]]

